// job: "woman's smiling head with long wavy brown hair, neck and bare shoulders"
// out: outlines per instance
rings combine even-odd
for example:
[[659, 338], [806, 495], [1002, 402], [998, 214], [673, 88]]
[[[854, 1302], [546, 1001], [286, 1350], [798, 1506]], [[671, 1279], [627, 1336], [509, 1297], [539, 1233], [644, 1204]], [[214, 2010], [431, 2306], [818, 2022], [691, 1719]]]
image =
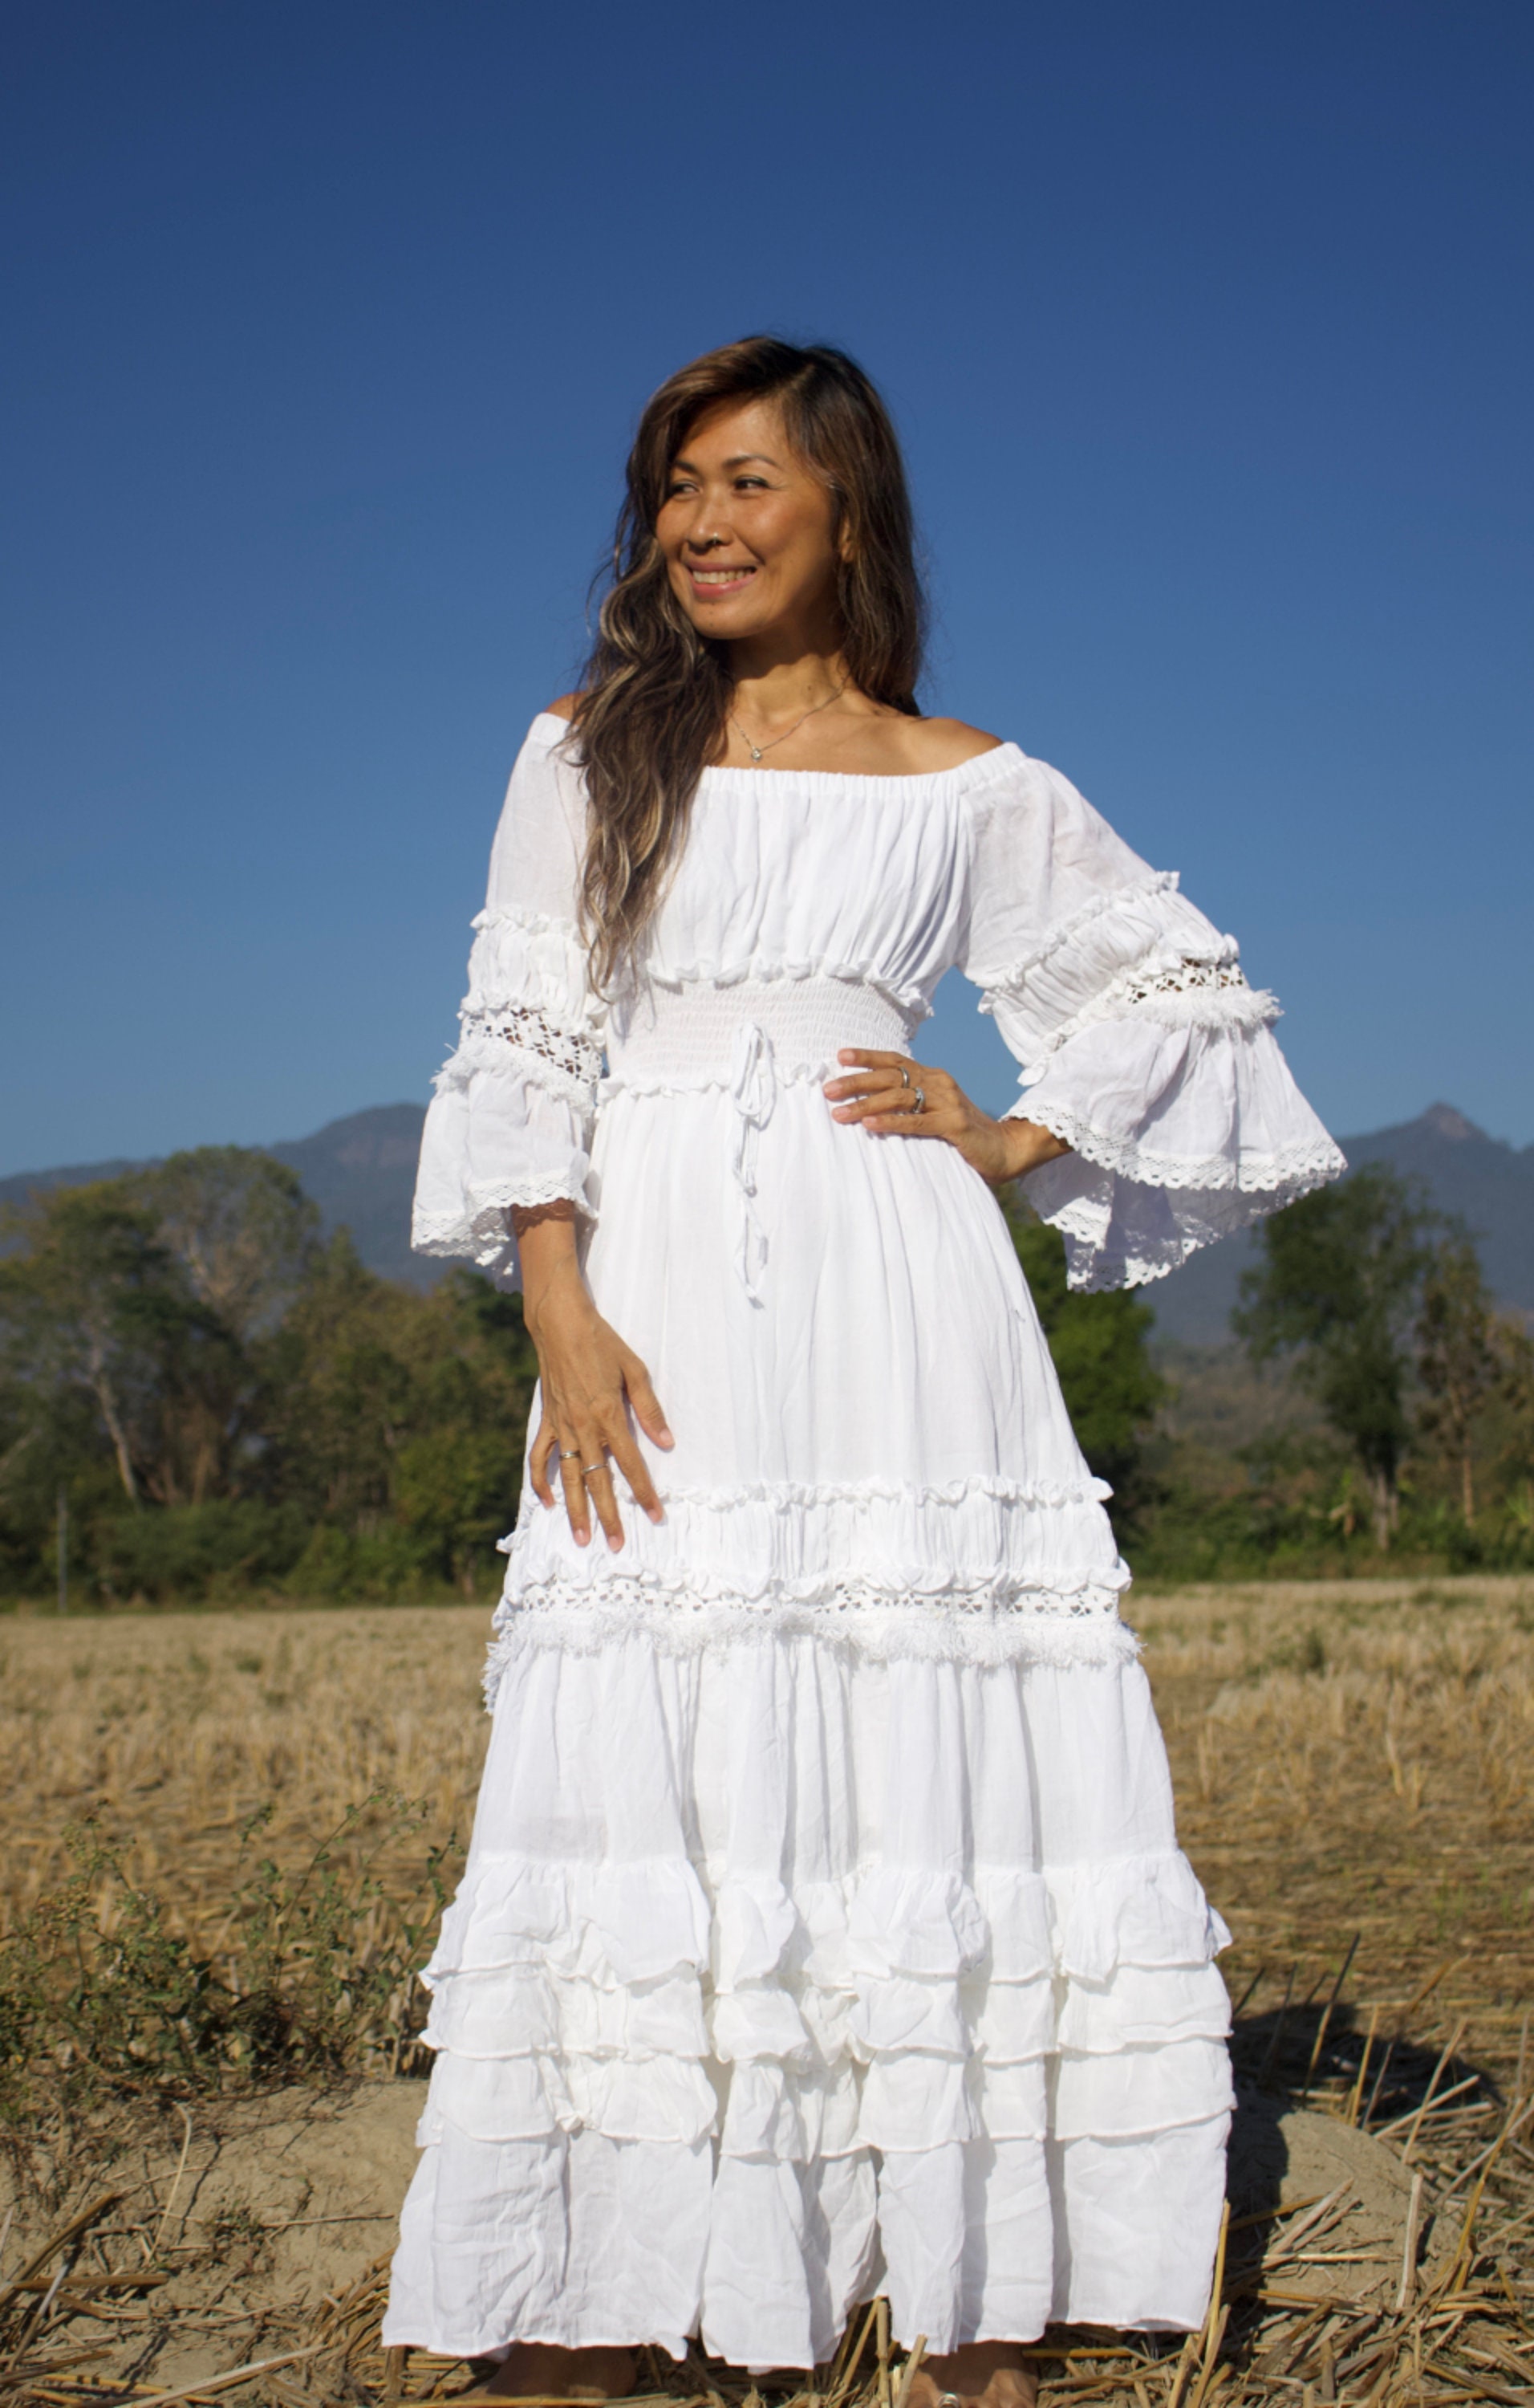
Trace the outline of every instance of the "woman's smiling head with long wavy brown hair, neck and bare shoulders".
[[727, 344], [650, 400], [588, 684], [556, 706], [592, 797], [600, 980], [648, 925], [706, 763], [773, 751], [775, 768], [908, 775], [995, 744], [918, 710], [910, 551], [893, 429], [838, 352]]

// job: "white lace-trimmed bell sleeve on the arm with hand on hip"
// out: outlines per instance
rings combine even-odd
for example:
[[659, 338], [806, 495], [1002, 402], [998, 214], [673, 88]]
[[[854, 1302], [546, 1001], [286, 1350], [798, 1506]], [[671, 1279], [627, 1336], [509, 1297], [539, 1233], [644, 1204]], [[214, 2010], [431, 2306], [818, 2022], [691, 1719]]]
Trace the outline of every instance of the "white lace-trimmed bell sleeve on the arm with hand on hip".
[[1233, 937], [1043, 761], [978, 799], [966, 975], [1069, 1153], [1023, 1180], [1074, 1288], [1134, 1288], [1346, 1170]]

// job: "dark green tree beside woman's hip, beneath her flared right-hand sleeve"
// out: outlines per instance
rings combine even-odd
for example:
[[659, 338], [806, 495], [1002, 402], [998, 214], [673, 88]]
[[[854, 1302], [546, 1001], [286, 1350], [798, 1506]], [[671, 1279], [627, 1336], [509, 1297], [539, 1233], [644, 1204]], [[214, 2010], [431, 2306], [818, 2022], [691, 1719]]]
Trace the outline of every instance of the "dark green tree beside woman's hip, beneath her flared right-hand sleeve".
[[1064, 1238], [1026, 1204], [1007, 1204], [1007, 1226], [1050, 1341], [1076, 1442], [1098, 1479], [1113, 1486], [1115, 1527], [1125, 1529], [1144, 1505], [1144, 1438], [1166, 1394], [1146, 1344], [1156, 1315], [1127, 1288], [1101, 1296], [1072, 1288]]

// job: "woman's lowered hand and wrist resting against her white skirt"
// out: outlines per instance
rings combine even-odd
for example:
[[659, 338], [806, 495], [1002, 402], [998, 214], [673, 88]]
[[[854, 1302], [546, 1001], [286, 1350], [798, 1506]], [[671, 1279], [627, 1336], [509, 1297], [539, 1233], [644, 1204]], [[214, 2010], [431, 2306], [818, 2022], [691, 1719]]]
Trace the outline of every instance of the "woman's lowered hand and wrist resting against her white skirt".
[[[513, 1209], [523, 1257], [523, 1312], [537, 1348], [542, 1418], [527, 1459], [532, 1493], [554, 1507], [554, 1466], [564, 1488], [576, 1546], [588, 1546], [592, 1510], [616, 1551], [624, 1544], [612, 1464], [636, 1505], [662, 1519], [650, 1469], [633, 1440], [633, 1421], [657, 1447], [674, 1445], [650, 1373], [602, 1320], [580, 1276], [571, 1204]], [[633, 1418], [631, 1418], [633, 1416]]]

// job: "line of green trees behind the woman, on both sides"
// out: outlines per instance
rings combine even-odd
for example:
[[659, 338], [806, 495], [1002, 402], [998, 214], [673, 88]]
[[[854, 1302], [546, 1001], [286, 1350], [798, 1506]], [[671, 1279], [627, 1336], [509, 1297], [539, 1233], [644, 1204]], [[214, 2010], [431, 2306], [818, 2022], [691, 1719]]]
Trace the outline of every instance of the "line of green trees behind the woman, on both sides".
[[[1072, 1293], [1060, 1238], [1007, 1218], [1137, 1568], [1534, 1563], [1534, 1344], [1392, 1170], [1262, 1226], [1235, 1329], [1308, 1421], [1214, 1483], [1158, 1435], [1144, 1298]], [[537, 1380], [520, 1298], [380, 1279], [238, 1146], [39, 1194], [0, 1245], [2, 1597], [46, 1597], [60, 1544], [82, 1604], [489, 1594]]]

